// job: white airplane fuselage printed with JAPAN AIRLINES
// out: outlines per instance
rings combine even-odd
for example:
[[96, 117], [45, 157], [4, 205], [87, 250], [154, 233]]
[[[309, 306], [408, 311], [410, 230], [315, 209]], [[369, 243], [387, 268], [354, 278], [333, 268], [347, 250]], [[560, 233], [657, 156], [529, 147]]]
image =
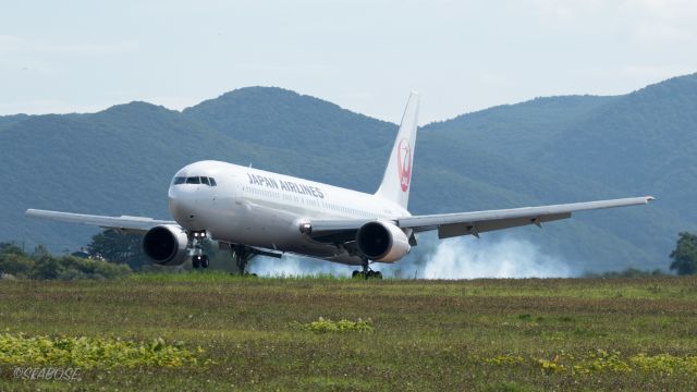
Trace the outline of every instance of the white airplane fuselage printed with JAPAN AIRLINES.
[[400, 205], [376, 195], [219, 161], [192, 163], [174, 179], [196, 176], [213, 179], [216, 185], [173, 181], [170, 212], [184, 229], [205, 230], [224, 243], [360, 265], [360, 257], [343, 247], [301, 233], [301, 223], [409, 216]]

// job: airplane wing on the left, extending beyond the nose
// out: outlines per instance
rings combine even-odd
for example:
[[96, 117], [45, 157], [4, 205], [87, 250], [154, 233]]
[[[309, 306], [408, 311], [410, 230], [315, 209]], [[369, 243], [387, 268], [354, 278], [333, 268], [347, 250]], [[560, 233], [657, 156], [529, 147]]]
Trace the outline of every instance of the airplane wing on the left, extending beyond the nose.
[[60, 222], [81, 223], [81, 224], [100, 226], [105, 229], [118, 229], [123, 232], [130, 232], [130, 233], [145, 233], [148, 230], [160, 224], [178, 224], [174, 221], [156, 220], [152, 218], [143, 218], [143, 217], [127, 217], [127, 216], [103, 217], [103, 216], [93, 216], [93, 215], [84, 215], [84, 213], [46, 211], [46, 210], [37, 210], [37, 209], [28, 209], [26, 210], [26, 215], [27, 217], [48, 219], [48, 220], [54, 220]]

